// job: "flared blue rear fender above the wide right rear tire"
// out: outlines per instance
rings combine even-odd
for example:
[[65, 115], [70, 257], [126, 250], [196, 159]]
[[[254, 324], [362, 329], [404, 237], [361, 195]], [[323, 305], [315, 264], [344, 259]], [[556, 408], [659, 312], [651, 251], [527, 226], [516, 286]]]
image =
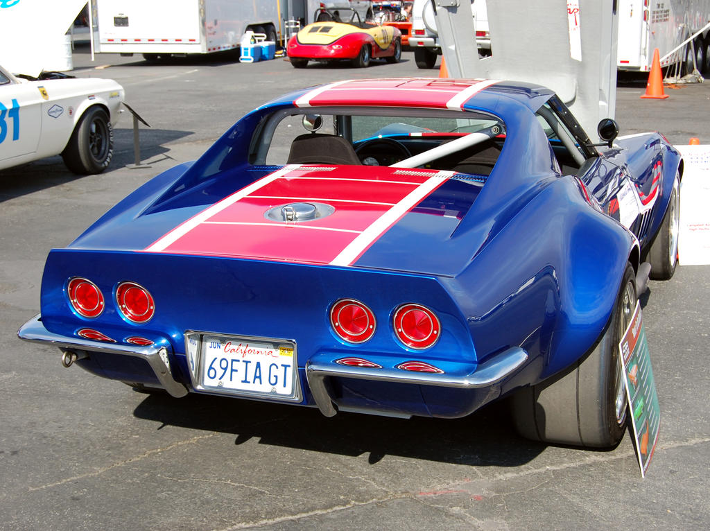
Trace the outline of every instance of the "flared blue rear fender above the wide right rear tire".
[[608, 322], [635, 238], [560, 177], [486, 243], [449, 290], [481, 360], [511, 346], [540, 381], [594, 345]]

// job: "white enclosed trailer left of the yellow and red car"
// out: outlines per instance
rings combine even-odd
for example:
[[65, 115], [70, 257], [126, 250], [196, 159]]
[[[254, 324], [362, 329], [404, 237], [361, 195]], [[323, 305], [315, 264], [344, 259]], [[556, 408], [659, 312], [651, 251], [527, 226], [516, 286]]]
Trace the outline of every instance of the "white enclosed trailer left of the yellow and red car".
[[305, 23], [313, 0], [91, 0], [99, 53], [146, 58], [206, 54], [239, 47], [246, 31], [280, 42], [283, 21]]

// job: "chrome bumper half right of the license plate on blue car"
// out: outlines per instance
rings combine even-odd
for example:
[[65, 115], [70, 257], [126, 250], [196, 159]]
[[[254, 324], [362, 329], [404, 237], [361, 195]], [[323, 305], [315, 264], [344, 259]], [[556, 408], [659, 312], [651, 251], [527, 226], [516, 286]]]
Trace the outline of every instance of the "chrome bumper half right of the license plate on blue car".
[[502, 381], [528, 360], [528, 353], [520, 347], [508, 349], [494, 356], [486, 363], [476, 366], [474, 371], [464, 376], [448, 374], [415, 373], [397, 368], [365, 368], [343, 366], [333, 363], [330, 356], [314, 356], [306, 362], [306, 378], [313, 399], [326, 417], [332, 417], [338, 410], [333, 403], [327, 378], [361, 378], [393, 383], [415, 383], [418, 385], [437, 385], [459, 389], [488, 387]]

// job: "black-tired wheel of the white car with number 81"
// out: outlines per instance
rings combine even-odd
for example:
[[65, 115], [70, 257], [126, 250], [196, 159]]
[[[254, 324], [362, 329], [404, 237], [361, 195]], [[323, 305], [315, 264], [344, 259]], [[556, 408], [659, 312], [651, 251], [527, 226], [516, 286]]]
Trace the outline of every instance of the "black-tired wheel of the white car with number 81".
[[72, 131], [62, 158], [80, 175], [102, 173], [114, 156], [114, 130], [104, 109], [93, 106], [84, 112]]

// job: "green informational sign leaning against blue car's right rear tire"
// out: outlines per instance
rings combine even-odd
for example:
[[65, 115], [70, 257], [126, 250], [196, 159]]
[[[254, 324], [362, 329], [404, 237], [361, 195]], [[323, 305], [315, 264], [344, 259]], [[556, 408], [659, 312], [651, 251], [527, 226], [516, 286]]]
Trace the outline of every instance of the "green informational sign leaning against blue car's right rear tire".
[[660, 408], [656, 384], [651, 370], [651, 358], [646, 341], [646, 331], [641, 319], [641, 307], [636, 302], [631, 324], [619, 343], [628, 396], [631, 426], [636, 442], [641, 476], [645, 476], [660, 431]]

